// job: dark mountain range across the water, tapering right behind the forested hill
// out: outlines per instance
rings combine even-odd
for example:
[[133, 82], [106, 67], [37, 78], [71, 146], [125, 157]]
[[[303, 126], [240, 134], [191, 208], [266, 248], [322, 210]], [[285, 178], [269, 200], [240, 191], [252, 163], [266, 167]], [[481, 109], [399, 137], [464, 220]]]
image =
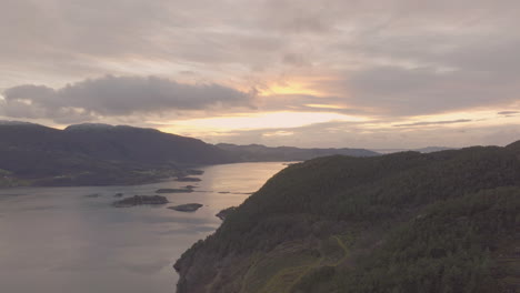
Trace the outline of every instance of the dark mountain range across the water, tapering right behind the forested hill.
[[378, 155], [361, 149], [212, 145], [154, 129], [94, 123], [58, 130], [0, 121], [0, 186], [138, 184], [182, 176], [197, 165]]

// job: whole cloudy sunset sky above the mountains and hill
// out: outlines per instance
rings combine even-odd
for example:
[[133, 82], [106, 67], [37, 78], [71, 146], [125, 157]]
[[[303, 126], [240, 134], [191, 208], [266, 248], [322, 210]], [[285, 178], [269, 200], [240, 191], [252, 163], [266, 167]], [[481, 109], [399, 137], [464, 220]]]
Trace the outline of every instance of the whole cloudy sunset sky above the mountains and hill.
[[517, 0], [0, 0], [0, 119], [304, 148], [520, 140]]

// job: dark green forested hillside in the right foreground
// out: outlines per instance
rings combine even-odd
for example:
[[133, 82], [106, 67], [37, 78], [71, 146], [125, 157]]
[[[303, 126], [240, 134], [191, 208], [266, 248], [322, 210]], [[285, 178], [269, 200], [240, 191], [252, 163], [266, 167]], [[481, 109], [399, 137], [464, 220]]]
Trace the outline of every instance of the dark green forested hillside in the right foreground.
[[518, 292], [518, 145], [291, 165], [182, 255], [178, 292]]

